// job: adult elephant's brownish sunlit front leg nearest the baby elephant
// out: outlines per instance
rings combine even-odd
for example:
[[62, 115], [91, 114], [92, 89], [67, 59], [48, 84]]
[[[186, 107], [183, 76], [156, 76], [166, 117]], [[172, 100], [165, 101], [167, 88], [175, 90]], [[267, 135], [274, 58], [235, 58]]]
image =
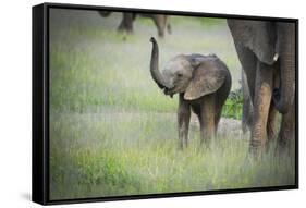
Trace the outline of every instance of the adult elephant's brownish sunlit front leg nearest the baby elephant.
[[254, 99], [254, 121], [250, 136], [250, 151], [262, 150], [267, 140], [267, 123], [273, 88], [273, 68], [257, 62], [256, 88]]

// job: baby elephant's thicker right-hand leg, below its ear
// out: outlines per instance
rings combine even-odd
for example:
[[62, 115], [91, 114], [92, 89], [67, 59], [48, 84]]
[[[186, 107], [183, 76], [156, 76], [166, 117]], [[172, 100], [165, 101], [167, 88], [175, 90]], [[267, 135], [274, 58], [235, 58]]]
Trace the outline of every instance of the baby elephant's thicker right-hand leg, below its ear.
[[215, 114], [215, 97], [212, 95], [205, 96], [200, 107], [199, 124], [200, 124], [200, 143], [209, 144], [215, 137], [216, 114]]

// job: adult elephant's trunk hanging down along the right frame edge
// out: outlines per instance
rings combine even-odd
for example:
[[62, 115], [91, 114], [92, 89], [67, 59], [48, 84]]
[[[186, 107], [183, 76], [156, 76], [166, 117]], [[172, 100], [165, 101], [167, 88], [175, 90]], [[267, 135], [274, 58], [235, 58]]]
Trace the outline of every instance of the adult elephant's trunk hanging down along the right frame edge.
[[273, 93], [277, 110], [286, 113], [295, 94], [295, 25], [278, 23], [278, 51], [280, 53], [280, 89]]

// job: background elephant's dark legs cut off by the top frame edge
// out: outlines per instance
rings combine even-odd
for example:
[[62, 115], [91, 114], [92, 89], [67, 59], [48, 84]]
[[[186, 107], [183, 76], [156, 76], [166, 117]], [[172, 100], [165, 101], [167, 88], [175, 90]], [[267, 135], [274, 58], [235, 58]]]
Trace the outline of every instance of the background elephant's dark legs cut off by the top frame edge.
[[[99, 14], [103, 17], [107, 17], [111, 14], [109, 11], [99, 11]], [[140, 15], [144, 17], [151, 19], [157, 27], [158, 36], [164, 37], [164, 30], [168, 29], [169, 34], [171, 34], [171, 25], [169, 23], [169, 16], [163, 14], [138, 14], [134, 12], [123, 12], [122, 20], [118, 27], [119, 32], [127, 32], [133, 33], [133, 22], [136, 16]]]

